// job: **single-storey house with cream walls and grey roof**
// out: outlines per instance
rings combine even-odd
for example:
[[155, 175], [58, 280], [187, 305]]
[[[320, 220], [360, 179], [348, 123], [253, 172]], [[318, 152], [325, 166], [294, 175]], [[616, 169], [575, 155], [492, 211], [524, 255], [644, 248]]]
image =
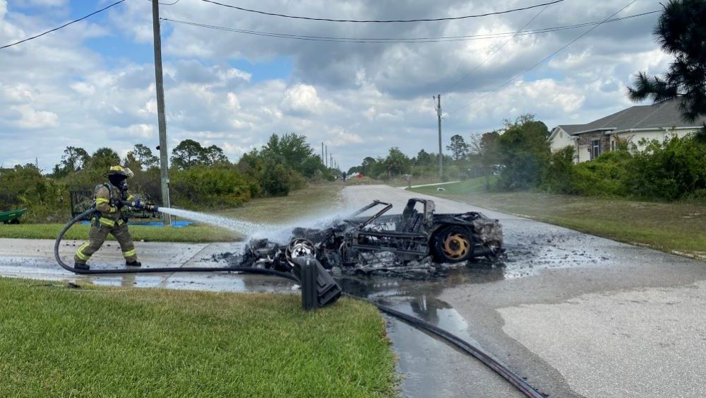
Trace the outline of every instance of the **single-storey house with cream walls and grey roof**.
[[684, 122], [678, 100], [671, 100], [629, 107], [586, 124], [561, 124], [551, 131], [549, 142], [552, 152], [573, 146], [575, 161], [580, 163], [615, 151], [616, 137], [642, 149], [642, 139], [663, 141], [672, 136], [683, 137], [698, 131], [705, 123], [706, 118]]

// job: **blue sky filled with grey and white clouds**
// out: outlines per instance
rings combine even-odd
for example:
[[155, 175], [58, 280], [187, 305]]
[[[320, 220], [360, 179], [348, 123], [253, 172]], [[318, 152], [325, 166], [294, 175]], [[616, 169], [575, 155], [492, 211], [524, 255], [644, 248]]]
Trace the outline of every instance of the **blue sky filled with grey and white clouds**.
[[[112, 4], [0, 0], [0, 46]], [[409, 156], [438, 152], [450, 137], [493, 131], [531, 113], [550, 129], [590, 122], [635, 105], [626, 87], [638, 71], [662, 74], [671, 56], [652, 35], [659, 13], [604, 23], [525, 74], [592, 26], [536, 35], [435, 42], [325, 42], [248, 35], [186, 21], [319, 37], [450, 37], [603, 21], [628, 0], [564, 0], [513, 13], [418, 23], [335, 23], [266, 16], [201, 0], [162, 0], [168, 146], [194, 139], [232, 161], [273, 133], [328, 146], [341, 168], [392, 146]], [[333, 19], [467, 16], [546, 0], [219, 0], [273, 13]], [[159, 142], [150, 0], [126, 0], [84, 21], [0, 49], [0, 167], [45, 172], [66, 146], [108, 146], [124, 156]], [[659, 11], [638, 0], [616, 17]], [[487, 37], [487, 36], [485, 36]], [[468, 40], [473, 39], [473, 40]], [[508, 79], [518, 76], [513, 81]], [[507, 82], [507, 83], [506, 83]], [[469, 105], [470, 104], [470, 105]]]

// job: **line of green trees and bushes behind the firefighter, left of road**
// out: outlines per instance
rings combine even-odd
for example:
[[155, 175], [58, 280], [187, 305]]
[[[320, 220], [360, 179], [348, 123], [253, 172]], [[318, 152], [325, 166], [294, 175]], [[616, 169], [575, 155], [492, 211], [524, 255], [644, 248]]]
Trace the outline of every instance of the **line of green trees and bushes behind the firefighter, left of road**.
[[[68, 146], [46, 175], [32, 164], [0, 170], [0, 210], [28, 207], [29, 220], [64, 221], [71, 211], [69, 192], [92, 191], [112, 165], [134, 172], [132, 192], [162, 203], [160, 159], [148, 146], [136, 144], [124, 158], [112, 148], [88, 153]], [[172, 149], [170, 200], [184, 208], [240, 206], [257, 197], [286, 196], [309, 181], [334, 180], [338, 173], [323, 165], [304, 135], [272, 134], [234, 163], [222, 148], [186, 139]]]

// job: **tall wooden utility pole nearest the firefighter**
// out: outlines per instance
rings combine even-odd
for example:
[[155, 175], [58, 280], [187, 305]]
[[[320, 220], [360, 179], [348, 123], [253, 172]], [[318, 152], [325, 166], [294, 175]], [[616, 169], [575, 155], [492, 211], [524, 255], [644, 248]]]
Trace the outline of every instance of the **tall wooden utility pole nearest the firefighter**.
[[[155, 38], [155, 83], [157, 86], [157, 122], [160, 128], [160, 176], [162, 206], [169, 207], [169, 164], [167, 163], [167, 116], [164, 112], [164, 81], [162, 78], [162, 37], [160, 35], [160, 3], [152, 1], [152, 30]], [[172, 216], [162, 213], [164, 226], [172, 226]]]

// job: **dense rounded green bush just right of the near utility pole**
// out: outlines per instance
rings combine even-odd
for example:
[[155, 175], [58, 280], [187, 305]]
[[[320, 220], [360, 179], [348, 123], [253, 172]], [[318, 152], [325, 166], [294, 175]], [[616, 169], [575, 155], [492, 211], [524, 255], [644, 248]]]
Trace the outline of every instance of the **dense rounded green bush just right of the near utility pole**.
[[252, 196], [249, 177], [234, 168], [173, 170], [169, 180], [172, 204], [185, 208], [241, 206]]

